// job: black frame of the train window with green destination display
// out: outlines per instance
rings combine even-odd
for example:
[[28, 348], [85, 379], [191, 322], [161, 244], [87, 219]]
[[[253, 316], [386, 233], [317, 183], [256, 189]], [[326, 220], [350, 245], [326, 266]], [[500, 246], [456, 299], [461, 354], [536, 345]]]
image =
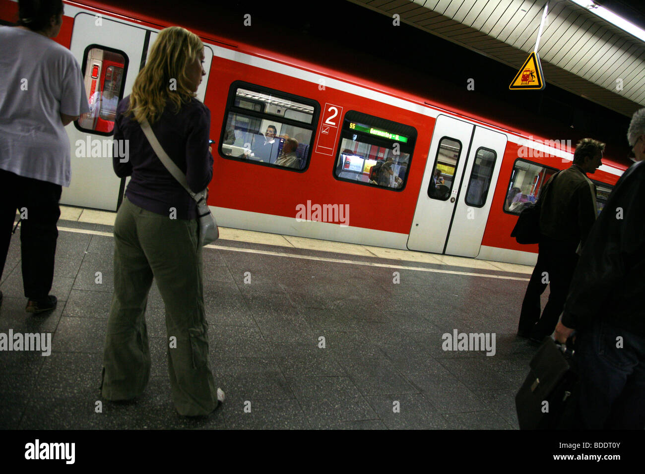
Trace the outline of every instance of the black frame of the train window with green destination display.
[[[348, 118], [348, 115], [350, 116], [350, 118]], [[354, 118], [352, 119], [352, 117], [354, 117]], [[403, 181], [402, 181], [401, 188], [392, 188], [390, 186], [382, 186], [381, 184], [372, 184], [369, 181], [367, 183], [364, 183], [364, 182], [358, 181], [356, 179], [339, 177], [336, 174], [337, 170], [338, 170], [338, 167], [339, 167], [341, 155], [343, 154], [342, 151], [341, 151], [342, 150], [342, 141], [346, 138], [346, 136], [345, 136], [346, 133], [348, 135], [355, 135], [356, 137], [359, 137], [359, 136], [369, 137], [371, 140], [376, 142], [377, 146], [389, 149], [389, 145], [391, 145], [391, 144], [388, 143], [388, 142], [391, 141], [390, 139], [386, 139], [384, 137], [379, 137], [379, 136], [376, 136], [376, 135], [370, 135], [370, 134], [368, 134], [366, 132], [361, 132], [359, 130], [352, 130], [351, 128], [348, 128], [350, 126], [349, 125], [350, 123], [359, 122], [359, 121], [369, 121], [369, 119], [377, 119], [377, 121], [381, 121], [382, 123], [384, 123], [384, 125], [381, 126], [382, 128], [388, 128], [387, 123], [392, 123], [395, 126], [401, 126], [401, 127], [410, 128], [410, 136], [406, 137], [406, 138], [408, 138], [408, 142], [405, 144], [404, 147], [400, 147], [400, 148], [409, 148], [410, 149], [409, 152], [407, 152], [407, 151], [404, 152], [404, 153], [408, 153], [409, 157], [408, 157], [408, 161], [407, 161], [408, 166], [406, 166], [407, 169], [406, 169]], [[392, 130], [394, 128], [395, 127], [392, 126]], [[352, 132], [348, 133], [347, 130], [352, 130]], [[366, 114], [365, 112], [360, 112], [358, 110], [347, 110], [344, 113], [344, 115], [342, 116], [342, 126], [340, 127], [339, 135], [340, 135], [340, 137], [339, 137], [339, 140], [337, 141], [337, 151], [336, 151], [333, 163], [332, 163], [332, 176], [336, 181], [342, 181], [344, 183], [352, 183], [352, 184], [361, 184], [362, 186], [368, 186], [370, 188], [389, 190], [389, 191], [395, 191], [395, 192], [402, 192], [406, 188], [406, 185], [408, 183], [408, 177], [410, 176], [410, 166], [412, 165], [412, 159], [413, 159], [413, 155], [414, 155], [415, 148], [416, 148], [416, 145], [417, 145], [417, 139], [419, 138], [419, 132], [417, 131], [417, 129], [415, 127], [413, 127], [412, 125], [408, 125], [406, 123], [397, 122], [397, 121], [393, 121], [393, 120], [390, 120], [390, 119], [384, 119], [384, 118], [379, 117], [377, 115]], [[394, 141], [394, 143], [399, 143], [399, 142]], [[372, 166], [374, 166], [374, 165], [372, 165]], [[371, 167], [370, 167], [370, 169], [371, 169]]]

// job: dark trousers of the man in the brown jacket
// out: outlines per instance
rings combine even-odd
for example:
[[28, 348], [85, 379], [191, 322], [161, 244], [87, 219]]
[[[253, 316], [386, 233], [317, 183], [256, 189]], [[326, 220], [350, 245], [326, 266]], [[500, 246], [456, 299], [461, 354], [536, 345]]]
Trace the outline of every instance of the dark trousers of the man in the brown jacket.
[[[553, 333], [564, 309], [577, 263], [575, 246], [542, 238], [537, 263], [522, 302], [519, 332], [529, 331], [536, 339], [544, 339]], [[551, 292], [540, 317], [540, 297], [547, 285], [550, 285]]]

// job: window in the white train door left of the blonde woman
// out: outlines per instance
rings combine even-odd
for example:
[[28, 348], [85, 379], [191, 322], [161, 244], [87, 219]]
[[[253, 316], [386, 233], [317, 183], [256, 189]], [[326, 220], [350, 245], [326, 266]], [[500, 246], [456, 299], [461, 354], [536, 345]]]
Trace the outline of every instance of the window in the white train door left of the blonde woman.
[[77, 121], [80, 130], [111, 135], [117, 104], [123, 98], [128, 57], [123, 51], [91, 44], [85, 49], [83, 78], [90, 112]]

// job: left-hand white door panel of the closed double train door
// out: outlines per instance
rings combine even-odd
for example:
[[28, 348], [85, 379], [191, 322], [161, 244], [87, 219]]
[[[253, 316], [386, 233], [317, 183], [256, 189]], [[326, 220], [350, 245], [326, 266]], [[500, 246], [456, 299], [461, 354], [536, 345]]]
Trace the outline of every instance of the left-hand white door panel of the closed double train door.
[[437, 117], [408, 237], [410, 250], [444, 252], [472, 135], [473, 124]]

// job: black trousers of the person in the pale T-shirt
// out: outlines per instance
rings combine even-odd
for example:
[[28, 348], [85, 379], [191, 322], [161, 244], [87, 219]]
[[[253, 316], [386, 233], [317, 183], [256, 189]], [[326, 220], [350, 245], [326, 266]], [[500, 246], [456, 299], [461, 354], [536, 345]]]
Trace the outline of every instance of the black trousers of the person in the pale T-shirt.
[[21, 221], [23, 287], [28, 299], [45, 298], [54, 281], [54, 255], [61, 215], [60, 184], [26, 178], [0, 170], [0, 275], [5, 269], [15, 212]]

